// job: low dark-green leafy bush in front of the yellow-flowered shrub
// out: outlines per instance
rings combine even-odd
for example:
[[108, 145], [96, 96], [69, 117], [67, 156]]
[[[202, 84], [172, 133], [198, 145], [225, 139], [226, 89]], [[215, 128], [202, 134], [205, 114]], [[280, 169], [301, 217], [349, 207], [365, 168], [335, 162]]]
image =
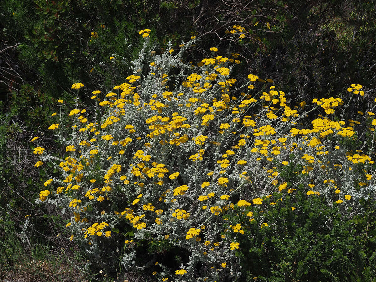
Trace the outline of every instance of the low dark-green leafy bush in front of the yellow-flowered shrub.
[[375, 253], [361, 248], [351, 209], [341, 211], [341, 203], [330, 206], [323, 196], [307, 195], [303, 185], [290, 194], [269, 196], [263, 206], [234, 209], [229, 218], [228, 229], [240, 243], [240, 264], [247, 270], [244, 277], [348, 281], [353, 273], [361, 276]]

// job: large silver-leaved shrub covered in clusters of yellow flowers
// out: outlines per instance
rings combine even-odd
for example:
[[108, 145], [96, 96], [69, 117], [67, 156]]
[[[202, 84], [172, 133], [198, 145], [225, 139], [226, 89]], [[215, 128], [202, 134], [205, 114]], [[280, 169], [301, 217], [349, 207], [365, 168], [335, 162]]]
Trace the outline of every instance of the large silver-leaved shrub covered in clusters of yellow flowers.
[[[290, 107], [283, 91], [254, 74], [231, 78], [239, 61], [216, 48], [196, 65], [183, 62], [192, 42], [162, 55], [145, 44], [124, 83], [92, 92], [94, 115], [76, 107], [55, 116], [50, 130], [65, 144], [64, 158], [34, 151], [60, 171], [40, 201], [71, 214], [70, 240], [97, 261], [123, 248], [125, 268], [147, 268], [162, 281], [239, 276], [236, 253], [252, 229], [235, 215], [273, 230], [277, 223], [263, 214], [295, 193], [325, 197], [342, 211], [374, 197], [367, 188], [374, 162], [349, 147], [360, 140], [357, 121], [335, 115], [348, 97]], [[356, 96], [353, 89], [361, 94], [362, 86], [348, 90]], [[326, 115], [307, 123], [320, 109]], [[361, 141], [372, 152], [372, 139]], [[171, 262], [171, 254], [180, 259]]]

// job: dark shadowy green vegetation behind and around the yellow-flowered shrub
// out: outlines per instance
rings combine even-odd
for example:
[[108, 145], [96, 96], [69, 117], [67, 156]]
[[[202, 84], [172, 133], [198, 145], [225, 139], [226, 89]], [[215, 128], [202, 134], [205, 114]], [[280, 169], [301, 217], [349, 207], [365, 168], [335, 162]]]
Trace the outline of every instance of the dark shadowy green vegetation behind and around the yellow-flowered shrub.
[[[373, 1], [2, 0], [1, 7], [0, 279], [55, 279], [54, 265], [62, 279], [94, 279], [83, 274], [85, 254], [64, 233], [59, 212], [35, 203], [46, 172], [34, 167], [29, 141], [38, 135], [45, 148], [62, 152], [46, 130], [56, 101], [75, 104], [76, 92], [67, 89], [76, 82], [90, 90], [122, 83], [142, 47], [141, 29], [152, 30], [158, 52], [199, 38], [186, 61], [212, 46], [238, 53], [235, 76], [271, 79], [291, 101], [335, 96], [355, 81], [367, 91], [354, 108], [365, 111], [375, 98]], [[236, 25], [244, 36], [228, 32]], [[115, 55], [121, 59], [112, 62]], [[88, 108], [89, 92], [79, 97]], [[353, 117], [351, 106], [346, 115]], [[358, 227], [368, 231], [375, 222], [371, 211]], [[109, 271], [116, 277], [120, 269]]]

